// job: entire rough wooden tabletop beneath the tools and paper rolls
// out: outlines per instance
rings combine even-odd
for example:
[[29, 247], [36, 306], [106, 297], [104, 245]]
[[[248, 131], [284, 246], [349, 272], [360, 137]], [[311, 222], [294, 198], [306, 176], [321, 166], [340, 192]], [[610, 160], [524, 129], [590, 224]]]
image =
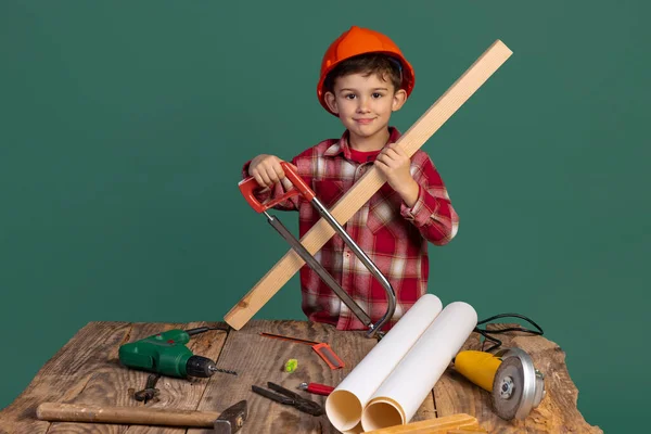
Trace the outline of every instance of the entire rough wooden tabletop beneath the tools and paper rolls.
[[[37, 373], [27, 388], [0, 411], [0, 433], [209, 433], [204, 429], [165, 429], [161, 426], [46, 422], [36, 419], [39, 404], [74, 403], [105, 406], [143, 406], [132, 392], [144, 388], [149, 373], [120, 366], [118, 347], [161, 331], [202, 326], [226, 328], [222, 322], [129, 323], [90, 322], [84, 327]], [[308, 346], [263, 337], [260, 332], [327, 342], [346, 363], [331, 370]], [[480, 349], [480, 336], [473, 333], [463, 349]], [[501, 335], [503, 347], [527, 352], [536, 368], [545, 374], [547, 396], [524, 421], [503, 421], [492, 410], [490, 396], [448, 369], [426, 397], [412, 421], [455, 413], [474, 416], [489, 433], [602, 433], [590, 426], [576, 409], [578, 392], [565, 367], [565, 354], [542, 336]], [[296, 390], [302, 382], [336, 386], [373, 347], [374, 340], [362, 332], [341, 332], [333, 327], [305, 321], [250, 321], [239, 331], [208, 331], [191, 337], [188, 346], [197, 356], [217, 360], [217, 367], [234, 370], [238, 376], [215, 373], [192, 381], [161, 378], [159, 395], [146, 406], [157, 408], [221, 412], [241, 399], [248, 403], [248, 419], [242, 434], [336, 433], [327, 416], [312, 417], [293, 407], [277, 404], [251, 392], [252, 385], [266, 387], [268, 381]], [[295, 358], [295, 372], [283, 371], [284, 362]], [[297, 391], [298, 392], [298, 391]], [[324, 404], [323, 396], [299, 392]]]

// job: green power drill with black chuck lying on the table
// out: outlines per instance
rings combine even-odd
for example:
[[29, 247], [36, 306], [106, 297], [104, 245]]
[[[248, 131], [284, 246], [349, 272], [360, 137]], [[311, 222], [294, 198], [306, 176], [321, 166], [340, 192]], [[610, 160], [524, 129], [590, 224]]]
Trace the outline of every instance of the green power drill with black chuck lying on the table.
[[190, 330], [168, 330], [119, 347], [119, 361], [129, 368], [141, 369], [168, 376], [212, 376], [215, 372], [237, 375], [234, 371], [219, 369], [207, 357], [194, 356], [186, 346], [190, 336], [208, 330], [200, 327]]

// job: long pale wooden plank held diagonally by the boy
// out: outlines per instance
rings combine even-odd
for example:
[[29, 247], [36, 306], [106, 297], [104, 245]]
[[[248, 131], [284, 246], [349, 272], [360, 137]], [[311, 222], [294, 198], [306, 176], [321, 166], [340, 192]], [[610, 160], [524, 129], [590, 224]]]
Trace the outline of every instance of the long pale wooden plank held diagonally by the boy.
[[[411, 156], [434, 132], [509, 59], [511, 50], [500, 40], [494, 42], [463, 75], [397, 141]], [[330, 210], [342, 225], [382, 187], [384, 179], [372, 167]], [[334, 234], [321, 218], [301, 242], [312, 255]], [[233, 329], [241, 329], [294, 276], [305, 263], [290, 250], [263, 279], [226, 315]]]

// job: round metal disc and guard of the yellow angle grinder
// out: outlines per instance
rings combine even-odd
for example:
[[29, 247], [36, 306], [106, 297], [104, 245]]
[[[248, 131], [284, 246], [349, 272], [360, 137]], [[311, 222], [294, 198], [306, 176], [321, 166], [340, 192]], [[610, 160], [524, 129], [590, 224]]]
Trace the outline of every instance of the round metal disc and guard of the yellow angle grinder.
[[525, 419], [545, 397], [544, 375], [531, 357], [520, 348], [498, 352], [501, 356], [493, 381], [493, 408], [505, 420]]

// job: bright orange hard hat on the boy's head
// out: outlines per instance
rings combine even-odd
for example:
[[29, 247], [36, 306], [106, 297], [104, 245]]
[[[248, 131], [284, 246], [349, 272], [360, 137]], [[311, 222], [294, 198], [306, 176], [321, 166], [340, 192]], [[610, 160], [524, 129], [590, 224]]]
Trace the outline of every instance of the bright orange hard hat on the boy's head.
[[387, 54], [400, 62], [403, 89], [407, 91], [407, 97], [409, 97], [413, 89], [416, 77], [413, 75], [413, 68], [409, 62], [407, 62], [407, 59], [405, 59], [398, 46], [379, 31], [353, 26], [330, 44], [321, 61], [321, 76], [319, 77], [319, 84], [317, 85], [317, 95], [319, 97], [319, 102], [328, 112], [330, 112], [330, 108], [328, 108], [328, 104], [326, 104], [327, 89], [323, 88], [326, 77], [336, 65], [346, 59], [367, 53]]

